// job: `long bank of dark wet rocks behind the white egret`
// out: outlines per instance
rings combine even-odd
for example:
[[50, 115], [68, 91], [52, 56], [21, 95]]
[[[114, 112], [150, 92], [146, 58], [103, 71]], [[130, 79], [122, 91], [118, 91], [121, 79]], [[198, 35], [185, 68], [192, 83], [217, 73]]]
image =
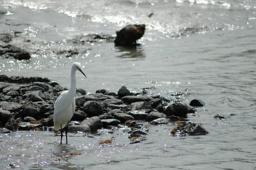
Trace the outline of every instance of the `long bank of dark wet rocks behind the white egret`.
[[[7, 77], [0, 75], [0, 132], [16, 130], [52, 130], [53, 110], [57, 97], [64, 89], [50, 79], [40, 77]], [[147, 135], [147, 126], [177, 123], [170, 135], [206, 135], [201, 125], [190, 123], [188, 113], [195, 113], [201, 100], [170, 103], [159, 95], [133, 94], [126, 86], [118, 94], [100, 89], [87, 94], [77, 89], [76, 111], [69, 125], [69, 132], [96, 132], [126, 125], [130, 127], [130, 140], [140, 142]]]

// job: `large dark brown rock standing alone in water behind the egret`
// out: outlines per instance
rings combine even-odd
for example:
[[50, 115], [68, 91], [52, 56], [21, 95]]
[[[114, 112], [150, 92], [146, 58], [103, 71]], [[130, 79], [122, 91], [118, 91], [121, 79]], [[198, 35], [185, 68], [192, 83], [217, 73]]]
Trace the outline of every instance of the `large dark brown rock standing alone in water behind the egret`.
[[115, 45], [131, 46], [136, 45], [136, 40], [143, 37], [145, 33], [145, 24], [135, 24], [125, 26], [123, 29], [116, 31]]

